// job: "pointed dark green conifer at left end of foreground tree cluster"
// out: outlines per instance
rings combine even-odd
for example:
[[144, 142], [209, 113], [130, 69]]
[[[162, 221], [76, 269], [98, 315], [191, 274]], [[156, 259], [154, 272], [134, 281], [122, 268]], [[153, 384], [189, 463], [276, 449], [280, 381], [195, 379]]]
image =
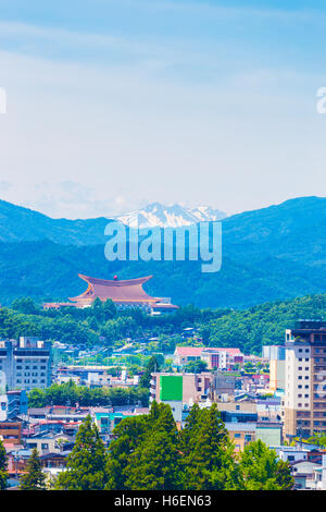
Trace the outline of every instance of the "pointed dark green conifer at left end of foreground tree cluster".
[[54, 481], [55, 490], [103, 490], [106, 484], [106, 454], [98, 428], [88, 415], [82, 423], [67, 459], [66, 471]]

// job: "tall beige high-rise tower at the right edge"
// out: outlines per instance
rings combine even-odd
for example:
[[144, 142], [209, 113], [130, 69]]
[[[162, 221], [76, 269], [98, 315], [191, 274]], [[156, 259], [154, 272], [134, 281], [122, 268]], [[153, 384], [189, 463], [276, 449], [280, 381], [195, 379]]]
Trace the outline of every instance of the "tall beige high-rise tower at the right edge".
[[326, 321], [286, 330], [283, 419], [286, 438], [326, 432]]

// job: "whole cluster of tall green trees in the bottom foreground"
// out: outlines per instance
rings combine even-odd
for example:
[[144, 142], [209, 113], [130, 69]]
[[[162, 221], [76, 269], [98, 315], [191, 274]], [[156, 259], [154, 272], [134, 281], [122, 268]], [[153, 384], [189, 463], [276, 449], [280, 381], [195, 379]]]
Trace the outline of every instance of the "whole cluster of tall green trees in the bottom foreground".
[[55, 490], [290, 490], [288, 463], [262, 441], [235, 452], [216, 404], [191, 407], [179, 430], [170, 405], [123, 419], [108, 451], [88, 416]]

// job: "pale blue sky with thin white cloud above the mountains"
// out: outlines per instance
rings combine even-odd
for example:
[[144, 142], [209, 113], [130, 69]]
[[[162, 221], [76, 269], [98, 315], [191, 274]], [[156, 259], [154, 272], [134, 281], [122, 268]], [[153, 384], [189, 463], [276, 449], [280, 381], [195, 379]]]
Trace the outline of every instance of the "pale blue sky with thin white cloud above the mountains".
[[324, 1], [0, 0], [0, 198], [75, 219], [325, 196], [325, 48]]

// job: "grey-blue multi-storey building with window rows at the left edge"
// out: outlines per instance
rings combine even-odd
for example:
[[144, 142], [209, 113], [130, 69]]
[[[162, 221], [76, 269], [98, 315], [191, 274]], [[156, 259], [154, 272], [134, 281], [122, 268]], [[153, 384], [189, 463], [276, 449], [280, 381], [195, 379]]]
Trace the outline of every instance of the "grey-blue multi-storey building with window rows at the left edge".
[[34, 337], [0, 341], [0, 374], [9, 390], [51, 385], [51, 342]]

